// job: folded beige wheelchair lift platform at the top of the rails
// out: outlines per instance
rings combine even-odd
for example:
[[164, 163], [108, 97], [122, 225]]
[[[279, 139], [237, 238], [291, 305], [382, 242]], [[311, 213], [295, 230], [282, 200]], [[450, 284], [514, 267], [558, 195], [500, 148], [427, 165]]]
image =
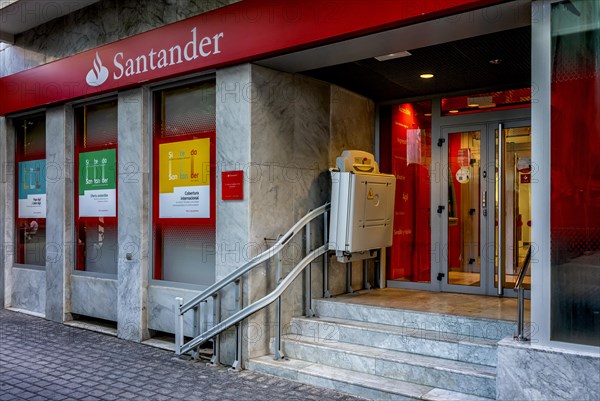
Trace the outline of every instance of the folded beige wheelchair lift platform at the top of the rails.
[[371, 257], [392, 245], [396, 177], [380, 174], [372, 154], [344, 151], [331, 169], [330, 249], [338, 260]]

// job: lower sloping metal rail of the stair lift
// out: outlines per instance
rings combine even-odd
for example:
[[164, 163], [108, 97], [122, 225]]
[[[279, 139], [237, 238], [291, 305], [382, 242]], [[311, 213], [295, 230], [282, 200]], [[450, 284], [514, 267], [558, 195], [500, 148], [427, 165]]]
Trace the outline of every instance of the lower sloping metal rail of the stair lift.
[[306, 268], [306, 266], [308, 266], [312, 261], [314, 261], [319, 256], [323, 255], [325, 252], [327, 252], [327, 244], [322, 245], [321, 247], [315, 249], [314, 251], [312, 251], [311, 253], [306, 255], [304, 257], [304, 259], [302, 259], [300, 261], [300, 263], [298, 263], [292, 269], [292, 271], [283, 280], [281, 280], [281, 282], [277, 285], [277, 287], [275, 287], [275, 289], [271, 293], [269, 293], [268, 295], [265, 295], [263, 298], [254, 302], [253, 304], [245, 307], [244, 309], [234, 313], [233, 315], [231, 315], [227, 319], [223, 320], [222, 322], [216, 324], [211, 329], [205, 331], [201, 336], [196, 337], [193, 340], [190, 340], [187, 344], [185, 344], [181, 347], [180, 352], [182, 354], [184, 354], [184, 353], [194, 349], [195, 347], [202, 344], [203, 342], [210, 340], [211, 338], [215, 337], [218, 334], [221, 334], [223, 331], [227, 330], [228, 328], [240, 323], [242, 320], [246, 319], [248, 316], [250, 316], [256, 312], [259, 312], [260, 310], [264, 309], [265, 307], [271, 305], [290, 286], [290, 284], [296, 279], [296, 277], [298, 277], [298, 275], [300, 275], [300, 273], [302, 273], [302, 271], [304, 270], [304, 268]]

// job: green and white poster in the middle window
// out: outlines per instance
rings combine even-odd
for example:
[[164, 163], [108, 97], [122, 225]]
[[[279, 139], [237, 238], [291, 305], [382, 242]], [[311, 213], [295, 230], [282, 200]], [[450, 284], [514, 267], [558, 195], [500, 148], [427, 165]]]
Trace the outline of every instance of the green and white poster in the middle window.
[[117, 216], [117, 151], [79, 154], [79, 217]]

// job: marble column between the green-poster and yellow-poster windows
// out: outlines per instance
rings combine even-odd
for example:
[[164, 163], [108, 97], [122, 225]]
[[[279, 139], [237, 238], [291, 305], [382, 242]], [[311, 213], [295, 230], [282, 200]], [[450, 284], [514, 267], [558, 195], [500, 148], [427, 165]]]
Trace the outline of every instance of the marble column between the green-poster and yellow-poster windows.
[[117, 335], [130, 341], [148, 338], [149, 105], [144, 88], [119, 93]]

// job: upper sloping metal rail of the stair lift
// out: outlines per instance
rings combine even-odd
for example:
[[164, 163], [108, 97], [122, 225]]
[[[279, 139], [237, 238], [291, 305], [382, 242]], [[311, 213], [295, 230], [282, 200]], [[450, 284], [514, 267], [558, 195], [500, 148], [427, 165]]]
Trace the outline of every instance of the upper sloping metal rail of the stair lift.
[[183, 314], [190, 309], [198, 306], [201, 302], [206, 301], [208, 298], [212, 297], [215, 293], [222, 290], [225, 286], [233, 283], [237, 279], [239, 279], [244, 274], [248, 273], [250, 270], [265, 262], [266, 260], [272, 258], [276, 254], [278, 254], [281, 249], [297, 234], [304, 226], [310, 223], [315, 217], [320, 216], [327, 210], [329, 210], [329, 202], [324, 204], [323, 206], [319, 206], [318, 208], [311, 210], [308, 212], [303, 218], [298, 220], [296, 224], [292, 226], [280, 239], [273, 244], [273, 246], [261, 254], [255, 256], [250, 259], [248, 262], [244, 263], [242, 266], [238, 267], [236, 270], [229, 273], [227, 276], [223, 277], [221, 280], [217, 281], [200, 294], [186, 302], [185, 304], [179, 307], [179, 314]]

